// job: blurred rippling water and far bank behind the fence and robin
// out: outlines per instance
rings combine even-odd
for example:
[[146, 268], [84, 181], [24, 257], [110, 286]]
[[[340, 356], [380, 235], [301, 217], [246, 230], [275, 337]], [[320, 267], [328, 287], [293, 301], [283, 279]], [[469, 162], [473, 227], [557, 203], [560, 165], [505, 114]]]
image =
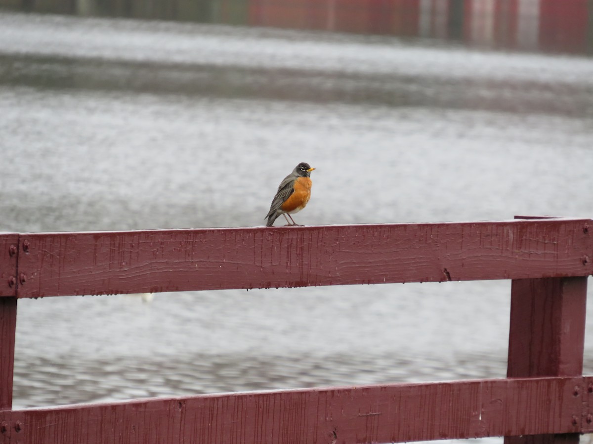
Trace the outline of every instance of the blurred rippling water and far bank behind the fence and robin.
[[[259, 226], [299, 162], [300, 224], [589, 218], [592, 53], [590, 0], [0, 0], [0, 230]], [[509, 298], [21, 300], [14, 404], [505, 377]]]

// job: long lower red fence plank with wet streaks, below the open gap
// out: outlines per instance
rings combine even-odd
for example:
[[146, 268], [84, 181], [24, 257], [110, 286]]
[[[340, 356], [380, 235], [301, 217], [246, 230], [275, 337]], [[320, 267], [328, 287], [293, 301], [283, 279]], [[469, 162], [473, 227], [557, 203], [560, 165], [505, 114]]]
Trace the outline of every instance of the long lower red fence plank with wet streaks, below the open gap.
[[[28, 444], [387, 443], [578, 432], [583, 378], [483, 379], [14, 410]], [[2, 413], [0, 412], [0, 421]], [[14, 431], [12, 432], [14, 436]]]

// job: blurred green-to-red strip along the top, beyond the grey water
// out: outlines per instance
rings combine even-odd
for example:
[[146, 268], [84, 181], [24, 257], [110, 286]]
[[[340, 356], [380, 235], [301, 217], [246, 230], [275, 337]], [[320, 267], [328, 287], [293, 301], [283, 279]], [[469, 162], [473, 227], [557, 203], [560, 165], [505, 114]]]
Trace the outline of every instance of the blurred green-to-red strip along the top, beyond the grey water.
[[593, 54], [593, 0], [0, 0], [0, 7]]

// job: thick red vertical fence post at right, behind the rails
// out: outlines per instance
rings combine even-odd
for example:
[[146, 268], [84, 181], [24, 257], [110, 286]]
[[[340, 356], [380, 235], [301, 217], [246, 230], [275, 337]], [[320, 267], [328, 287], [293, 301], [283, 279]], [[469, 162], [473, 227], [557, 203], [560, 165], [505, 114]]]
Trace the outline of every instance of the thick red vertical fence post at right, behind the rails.
[[[582, 374], [586, 289], [586, 276], [512, 281], [507, 377]], [[505, 444], [578, 442], [578, 433], [505, 437]]]

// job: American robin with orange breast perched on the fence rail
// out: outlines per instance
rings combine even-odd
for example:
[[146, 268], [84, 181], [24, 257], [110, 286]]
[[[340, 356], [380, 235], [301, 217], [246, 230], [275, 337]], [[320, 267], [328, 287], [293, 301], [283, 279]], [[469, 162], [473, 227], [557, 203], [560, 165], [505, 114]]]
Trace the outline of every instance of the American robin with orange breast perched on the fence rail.
[[[311, 197], [310, 176], [314, 169], [308, 163], [301, 162], [292, 170], [292, 173], [284, 178], [278, 187], [272, 205], [270, 205], [270, 211], [265, 217], [267, 218], [266, 227], [271, 227], [280, 214], [284, 215], [289, 225], [297, 225], [292, 220], [291, 214], [301, 211], [307, 205]], [[292, 224], [286, 214], [291, 218]]]

